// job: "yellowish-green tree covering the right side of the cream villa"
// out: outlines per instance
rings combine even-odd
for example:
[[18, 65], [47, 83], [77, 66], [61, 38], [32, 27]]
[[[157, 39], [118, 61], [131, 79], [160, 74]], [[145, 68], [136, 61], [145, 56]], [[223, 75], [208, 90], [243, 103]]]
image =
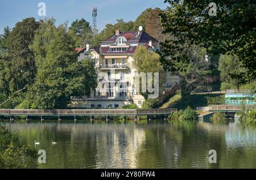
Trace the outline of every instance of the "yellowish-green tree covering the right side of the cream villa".
[[[136, 52], [134, 54], [133, 66], [137, 68], [138, 72], [152, 72], [152, 87], [154, 87], [154, 72], [159, 72], [159, 88], [162, 88], [165, 83], [165, 72], [162, 64], [160, 63], [160, 55], [147, 50], [146, 46], [137, 46]], [[147, 82], [150, 83], [150, 82]], [[140, 83], [142, 84], [142, 83]], [[159, 93], [161, 93], [159, 89]], [[148, 98], [150, 94], [147, 92], [140, 93], [145, 99]]]

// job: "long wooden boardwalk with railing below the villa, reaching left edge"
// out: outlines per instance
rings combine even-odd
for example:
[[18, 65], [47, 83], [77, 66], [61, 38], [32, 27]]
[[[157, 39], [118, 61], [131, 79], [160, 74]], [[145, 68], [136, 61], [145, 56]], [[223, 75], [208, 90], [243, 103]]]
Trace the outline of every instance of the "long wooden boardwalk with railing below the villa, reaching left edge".
[[138, 115], [168, 115], [176, 112], [170, 109], [0, 109], [2, 116], [138, 116]]

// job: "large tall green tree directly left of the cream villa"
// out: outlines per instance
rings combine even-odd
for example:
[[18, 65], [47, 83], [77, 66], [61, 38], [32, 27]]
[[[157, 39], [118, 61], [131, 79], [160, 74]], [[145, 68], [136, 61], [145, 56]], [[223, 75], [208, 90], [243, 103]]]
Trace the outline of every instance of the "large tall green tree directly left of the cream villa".
[[[35, 83], [29, 87], [19, 108], [67, 108], [71, 96], [96, 87], [93, 62], [89, 59], [77, 62], [75, 42], [67, 32], [67, 25], [53, 30], [46, 56], [40, 57], [44, 60], [38, 68]], [[44, 35], [43, 31], [40, 32]]]

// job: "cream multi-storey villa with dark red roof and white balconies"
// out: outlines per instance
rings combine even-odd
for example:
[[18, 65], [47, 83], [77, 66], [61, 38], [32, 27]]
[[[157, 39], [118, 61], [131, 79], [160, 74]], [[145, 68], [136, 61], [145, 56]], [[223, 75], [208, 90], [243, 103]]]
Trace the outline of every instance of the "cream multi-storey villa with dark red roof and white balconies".
[[[86, 48], [78, 53], [78, 61], [89, 58], [93, 61], [98, 75], [96, 89], [89, 96], [71, 97], [72, 106], [77, 108], [119, 108], [127, 104], [141, 107], [144, 97], [134, 89], [136, 68], [133, 67], [133, 55], [138, 45], [148, 50], [159, 49], [159, 42], [146, 32], [119, 32], [101, 42], [100, 47]], [[167, 72], [165, 86], [171, 87], [179, 82], [178, 76]]]

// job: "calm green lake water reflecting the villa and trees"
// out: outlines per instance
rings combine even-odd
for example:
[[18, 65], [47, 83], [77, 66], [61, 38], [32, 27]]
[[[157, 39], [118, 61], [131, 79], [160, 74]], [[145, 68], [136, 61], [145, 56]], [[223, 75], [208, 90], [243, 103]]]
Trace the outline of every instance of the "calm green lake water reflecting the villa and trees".
[[[15, 120], [6, 126], [22, 144], [34, 147], [36, 140], [35, 148], [46, 150], [46, 164], [29, 160], [28, 168], [256, 168], [256, 127], [234, 120]], [[210, 149], [216, 164], [208, 161]]]

